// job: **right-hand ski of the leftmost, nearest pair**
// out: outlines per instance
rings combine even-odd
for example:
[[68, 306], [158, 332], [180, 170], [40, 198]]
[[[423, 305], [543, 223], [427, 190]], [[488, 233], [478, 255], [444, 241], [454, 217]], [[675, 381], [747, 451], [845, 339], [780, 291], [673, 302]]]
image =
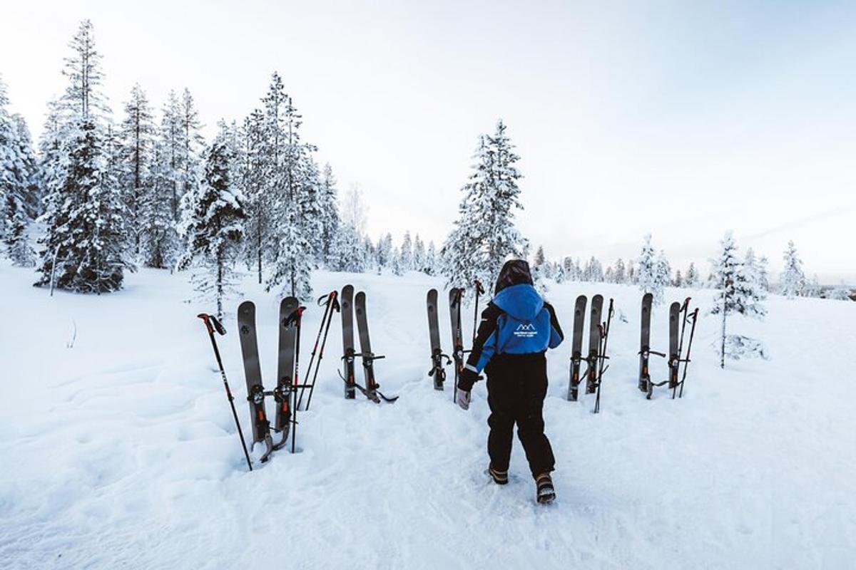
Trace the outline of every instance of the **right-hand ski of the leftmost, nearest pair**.
[[291, 427], [292, 391], [296, 389], [294, 381], [294, 355], [297, 340], [297, 321], [292, 314], [298, 310], [300, 302], [295, 297], [285, 297], [279, 303], [279, 346], [276, 360], [276, 388], [273, 397], [276, 401], [274, 429], [282, 433], [282, 438], [274, 449], [279, 449], [288, 439]]

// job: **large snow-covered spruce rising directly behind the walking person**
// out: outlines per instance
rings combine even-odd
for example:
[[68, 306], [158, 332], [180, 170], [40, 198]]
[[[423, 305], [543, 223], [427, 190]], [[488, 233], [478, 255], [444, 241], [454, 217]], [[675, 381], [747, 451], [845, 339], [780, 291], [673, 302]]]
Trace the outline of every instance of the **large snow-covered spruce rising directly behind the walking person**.
[[459, 216], [441, 250], [443, 274], [449, 286], [469, 288], [475, 279], [494, 283], [502, 262], [526, 255], [527, 242], [514, 226], [514, 212], [523, 209], [514, 164], [514, 144], [502, 120], [493, 135], [479, 137], [476, 164], [462, 188]]

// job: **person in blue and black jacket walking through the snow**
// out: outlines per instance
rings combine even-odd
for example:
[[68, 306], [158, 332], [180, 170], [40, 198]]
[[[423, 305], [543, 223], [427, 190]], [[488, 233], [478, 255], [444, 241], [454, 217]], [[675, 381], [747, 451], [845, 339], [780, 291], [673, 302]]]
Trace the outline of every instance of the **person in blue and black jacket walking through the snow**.
[[544, 434], [544, 397], [547, 395], [547, 360], [544, 353], [562, 343], [556, 312], [545, 303], [532, 283], [529, 264], [508, 261], [496, 279], [494, 297], [482, 313], [473, 352], [461, 372], [455, 401], [463, 409], [470, 391], [487, 374], [490, 406], [488, 473], [498, 485], [508, 483], [508, 461], [514, 424], [517, 437], [537, 486], [538, 502], [556, 498], [550, 472], [556, 462]]

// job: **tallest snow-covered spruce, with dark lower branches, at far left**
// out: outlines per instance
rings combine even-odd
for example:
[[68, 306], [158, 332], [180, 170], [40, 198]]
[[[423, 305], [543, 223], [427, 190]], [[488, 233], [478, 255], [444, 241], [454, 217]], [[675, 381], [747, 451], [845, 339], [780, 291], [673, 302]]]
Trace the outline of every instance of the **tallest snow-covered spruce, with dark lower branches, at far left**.
[[63, 73], [68, 86], [52, 111], [60, 131], [62, 185], [46, 199], [46, 232], [36, 285], [71, 291], [106, 292], [122, 287], [127, 211], [109, 156], [110, 109], [100, 92], [103, 79], [92, 24], [83, 21], [69, 44]]

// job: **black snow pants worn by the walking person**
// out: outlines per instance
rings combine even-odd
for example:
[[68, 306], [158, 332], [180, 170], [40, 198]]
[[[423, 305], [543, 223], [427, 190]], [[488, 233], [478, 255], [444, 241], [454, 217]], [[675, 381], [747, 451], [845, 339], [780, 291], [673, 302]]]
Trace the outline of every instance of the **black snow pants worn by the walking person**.
[[507, 471], [511, 459], [514, 424], [532, 476], [553, 470], [556, 463], [550, 440], [544, 435], [544, 397], [547, 396], [547, 359], [543, 352], [530, 355], [499, 354], [490, 359], [487, 403], [490, 465]]

